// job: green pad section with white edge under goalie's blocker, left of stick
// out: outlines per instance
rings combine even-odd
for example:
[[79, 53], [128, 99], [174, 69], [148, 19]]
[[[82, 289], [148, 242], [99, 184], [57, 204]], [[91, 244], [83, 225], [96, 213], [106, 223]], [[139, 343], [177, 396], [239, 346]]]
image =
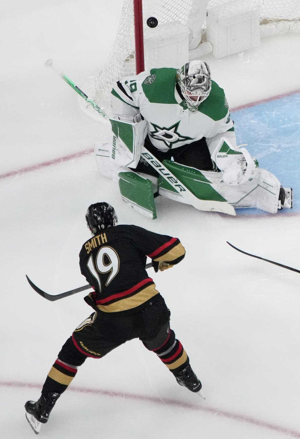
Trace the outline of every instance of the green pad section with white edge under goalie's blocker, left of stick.
[[151, 180], [134, 172], [120, 172], [119, 189], [124, 203], [148, 218], [157, 218]]

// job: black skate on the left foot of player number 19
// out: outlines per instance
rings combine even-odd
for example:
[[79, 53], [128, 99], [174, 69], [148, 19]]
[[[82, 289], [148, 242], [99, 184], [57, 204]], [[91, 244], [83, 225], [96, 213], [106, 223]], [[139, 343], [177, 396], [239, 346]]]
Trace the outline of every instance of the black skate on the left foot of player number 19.
[[27, 401], [25, 404], [26, 419], [36, 435], [40, 433], [41, 424], [46, 424], [48, 421], [49, 414], [59, 397], [60, 393], [50, 392], [47, 399], [41, 396], [38, 401]]

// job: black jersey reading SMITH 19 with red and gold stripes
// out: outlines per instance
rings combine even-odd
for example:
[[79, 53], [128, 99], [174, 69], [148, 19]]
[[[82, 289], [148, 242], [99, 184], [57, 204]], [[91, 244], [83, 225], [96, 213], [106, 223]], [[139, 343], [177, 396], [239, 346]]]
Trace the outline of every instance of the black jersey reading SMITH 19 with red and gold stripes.
[[107, 313], [133, 312], [159, 294], [145, 270], [147, 256], [176, 264], [184, 255], [178, 238], [134, 225], [106, 228], [80, 251], [81, 273], [94, 288], [85, 300]]

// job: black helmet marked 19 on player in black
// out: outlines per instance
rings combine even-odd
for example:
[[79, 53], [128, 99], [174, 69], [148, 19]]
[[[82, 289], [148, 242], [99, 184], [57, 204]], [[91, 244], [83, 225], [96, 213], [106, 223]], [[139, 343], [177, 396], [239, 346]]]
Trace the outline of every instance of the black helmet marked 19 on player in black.
[[85, 219], [87, 220], [87, 228], [92, 235], [118, 224], [115, 209], [105, 202], [91, 204], [87, 209]]

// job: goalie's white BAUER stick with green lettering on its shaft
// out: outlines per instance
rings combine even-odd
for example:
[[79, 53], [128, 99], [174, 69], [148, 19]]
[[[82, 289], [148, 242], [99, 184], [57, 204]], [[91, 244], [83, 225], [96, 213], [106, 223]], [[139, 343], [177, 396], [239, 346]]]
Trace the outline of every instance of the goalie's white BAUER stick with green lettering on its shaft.
[[[98, 107], [93, 101], [90, 100], [87, 95], [80, 90], [78, 86], [76, 86], [71, 79], [64, 75], [64, 73], [60, 72], [58, 68], [56, 68], [53, 64], [52, 59], [48, 59], [45, 62], [46, 67], [50, 67], [58, 76], [61, 77], [73, 90], [76, 91], [83, 99], [89, 102], [94, 110], [96, 110], [103, 118], [107, 121], [110, 119], [108, 116], [102, 112], [101, 108]], [[152, 166], [183, 198], [186, 198], [192, 206], [194, 206], [198, 210], [204, 211], [215, 211], [215, 212], [223, 212], [228, 215], [236, 215], [235, 209], [227, 202], [220, 201], [211, 201], [211, 200], [201, 200], [197, 198], [184, 184], [178, 180], [168, 169], [163, 166], [161, 162], [155, 157], [153, 157], [145, 146], [141, 147], [141, 155], [143, 158]]]

